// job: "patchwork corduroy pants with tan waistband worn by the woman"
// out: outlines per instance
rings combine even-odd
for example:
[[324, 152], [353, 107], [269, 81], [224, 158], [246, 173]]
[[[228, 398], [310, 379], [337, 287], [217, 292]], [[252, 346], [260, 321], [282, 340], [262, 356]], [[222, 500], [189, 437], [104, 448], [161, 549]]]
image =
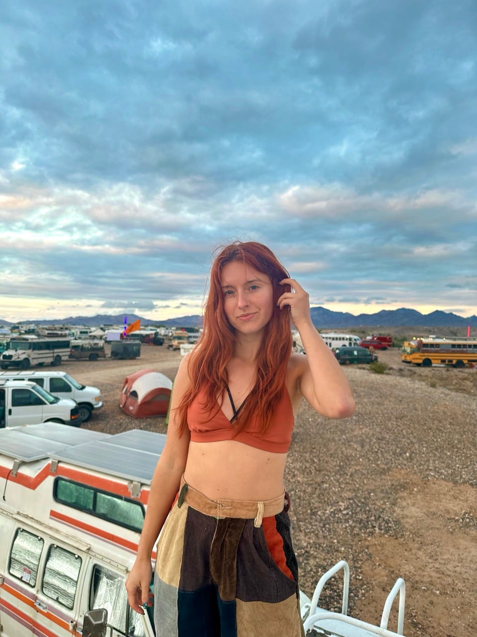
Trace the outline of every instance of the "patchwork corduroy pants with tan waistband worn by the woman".
[[304, 636], [284, 501], [211, 500], [181, 481], [157, 545], [156, 637]]

